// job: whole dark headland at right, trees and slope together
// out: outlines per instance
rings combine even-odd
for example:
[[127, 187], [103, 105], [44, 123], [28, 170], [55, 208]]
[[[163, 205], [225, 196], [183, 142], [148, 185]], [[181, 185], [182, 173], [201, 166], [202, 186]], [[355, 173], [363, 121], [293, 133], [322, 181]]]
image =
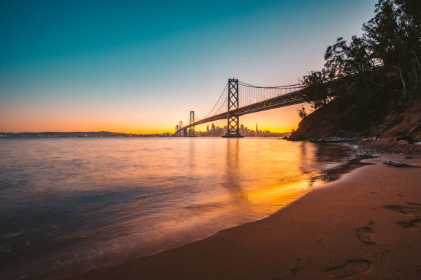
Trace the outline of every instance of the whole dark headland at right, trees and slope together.
[[[314, 108], [292, 139], [350, 135], [421, 135], [421, 1], [379, 0], [362, 36], [327, 47], [325, 65], [300, 79]], [[408, 112], [411, 112], [409, 114]]]

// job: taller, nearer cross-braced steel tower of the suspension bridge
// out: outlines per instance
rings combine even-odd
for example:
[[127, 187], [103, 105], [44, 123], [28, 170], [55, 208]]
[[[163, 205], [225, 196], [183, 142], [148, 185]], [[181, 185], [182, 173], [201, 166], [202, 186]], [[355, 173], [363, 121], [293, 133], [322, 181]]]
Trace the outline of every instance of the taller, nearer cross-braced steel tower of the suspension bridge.
[[228, 79], [228, 124], [223, 137], [243, 137], [239, 134], [239, 117], [230, 111], [238, 108], [238, 80]]

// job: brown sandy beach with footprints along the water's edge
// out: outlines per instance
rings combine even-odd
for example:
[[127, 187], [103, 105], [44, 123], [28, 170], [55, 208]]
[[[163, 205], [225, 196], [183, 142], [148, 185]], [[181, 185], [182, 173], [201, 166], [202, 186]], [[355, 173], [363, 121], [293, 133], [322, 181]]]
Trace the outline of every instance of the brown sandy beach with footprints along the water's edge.
[[421, 169], [382, 164], [414, 157], [366, 159], [266, 219], [74, 279], [421, 279]]

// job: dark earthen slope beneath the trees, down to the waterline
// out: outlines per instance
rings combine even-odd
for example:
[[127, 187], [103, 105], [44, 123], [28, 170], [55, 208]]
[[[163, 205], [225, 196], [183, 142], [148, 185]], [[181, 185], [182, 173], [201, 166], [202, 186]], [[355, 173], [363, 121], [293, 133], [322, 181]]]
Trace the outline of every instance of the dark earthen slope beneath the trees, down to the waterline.
[[342, 113], [333, 113], [328, 106], [319, 108], [301, 120], [290, 140], [327, 137], [421, 139], [421, 97], [416, 96], [404, 106], [398, 107], [396, 103], [396, 100], [383, 104], [366, 100], [363, 106], [351, 104]]

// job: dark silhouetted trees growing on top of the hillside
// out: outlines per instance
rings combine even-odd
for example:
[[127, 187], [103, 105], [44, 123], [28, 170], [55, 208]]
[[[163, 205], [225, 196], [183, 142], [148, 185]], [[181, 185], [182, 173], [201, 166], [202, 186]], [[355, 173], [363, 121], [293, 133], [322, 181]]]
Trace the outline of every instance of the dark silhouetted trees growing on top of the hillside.
[[407, 89], [418, 93], [420, 1], [379, 0], [375, 12], [363, 25], [363, 36], [353, 36], [349, 43], [338, 38], [327, 47], [325, 68], [301, 80], [314, 109], [329, 104], [330, 112], [338, 113], [342, 103], [366, 103], [385, 87], [402, 89], [400, 99], [410, 98]]

